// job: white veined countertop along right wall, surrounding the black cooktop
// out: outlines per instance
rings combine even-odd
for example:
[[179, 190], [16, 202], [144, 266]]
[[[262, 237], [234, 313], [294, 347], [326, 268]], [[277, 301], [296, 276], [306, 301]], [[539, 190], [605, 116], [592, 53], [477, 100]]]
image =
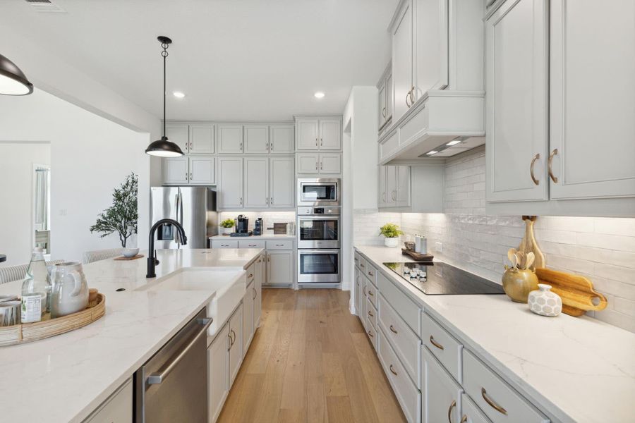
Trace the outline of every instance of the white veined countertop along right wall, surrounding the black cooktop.
[[635, 333], [591, 317], [542, 317], [507, 295], [425, 295], [384, 262], [400, 248], [356, 246], [503, 379], [562, 422], [635, 422]]

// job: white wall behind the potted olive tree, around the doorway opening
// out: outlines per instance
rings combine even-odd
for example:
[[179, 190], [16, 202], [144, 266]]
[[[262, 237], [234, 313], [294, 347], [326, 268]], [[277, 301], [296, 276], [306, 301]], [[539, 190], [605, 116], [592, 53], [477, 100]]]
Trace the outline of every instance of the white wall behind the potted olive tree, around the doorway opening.
[[[139, 243], [149, 229], [150, 159], [148, 133], [112, 121], [36, 90], [25, 97], [0, 96], [0, 141], [47, 141], [51, 145], [52, 258], [80, 260], [86, 250], [117, 247], [119, 239], [100, 239], [88, 228], [97, 214], [111, 205], [112, 190], [128, 173], [139, 176]], [[1, 192], [16, 190], [0, 180]], [[144, 195], [144, 192], [146, 195]], [[4, 233], [11, 221], [0, 221]], [[16, 257], [7, 264], [28, 262]]]

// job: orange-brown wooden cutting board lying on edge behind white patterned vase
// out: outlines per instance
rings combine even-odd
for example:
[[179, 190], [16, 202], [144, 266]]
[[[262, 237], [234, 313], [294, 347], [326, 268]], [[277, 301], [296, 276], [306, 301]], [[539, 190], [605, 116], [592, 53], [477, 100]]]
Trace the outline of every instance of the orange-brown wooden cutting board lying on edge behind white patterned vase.
[[550, 285], [551, 290], [562, 298], [562, 312], [569, 316], [581, 316], [589, 310], [599, 311], [606, 308], [604, 295], [593, 290], [593, 283], [584, 276], [536, 268], [540, 283]]

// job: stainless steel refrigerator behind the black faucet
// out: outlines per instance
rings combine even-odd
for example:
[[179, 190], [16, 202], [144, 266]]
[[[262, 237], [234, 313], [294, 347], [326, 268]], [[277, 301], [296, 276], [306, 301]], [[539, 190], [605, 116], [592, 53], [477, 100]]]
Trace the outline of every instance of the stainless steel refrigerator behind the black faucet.
[[174, 219], [185, 229], [188, 243], [181, 244], [172, 225], [157, 230], [155, 247], [207, 248], [207, 239], [218, 234], [216, 191], [207, 187], [150, 188], [150, 223], [160, 219]]

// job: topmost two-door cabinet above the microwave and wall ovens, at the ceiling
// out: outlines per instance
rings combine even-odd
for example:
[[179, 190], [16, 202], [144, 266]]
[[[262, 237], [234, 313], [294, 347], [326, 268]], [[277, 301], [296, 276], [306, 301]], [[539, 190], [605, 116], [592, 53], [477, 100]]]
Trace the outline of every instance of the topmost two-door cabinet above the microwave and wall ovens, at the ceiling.
[[341, 118], [296, 118], [298, 150], [340, 150]]

